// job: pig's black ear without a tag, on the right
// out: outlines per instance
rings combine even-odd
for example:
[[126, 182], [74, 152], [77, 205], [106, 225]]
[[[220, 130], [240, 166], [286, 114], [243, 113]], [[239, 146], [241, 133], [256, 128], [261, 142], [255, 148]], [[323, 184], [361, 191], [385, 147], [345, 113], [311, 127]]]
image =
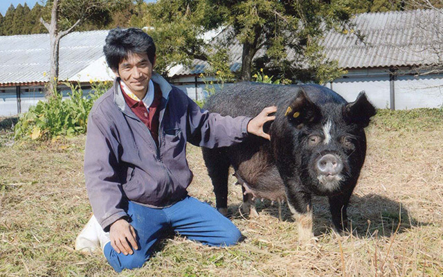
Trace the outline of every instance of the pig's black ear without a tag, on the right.
[[370, 118], [375, 114], [375, 107], [369, 102], [364, 91], [359, 93], [354, 102], [343, 107], [345, 121], [363, 128], [369, 125]]

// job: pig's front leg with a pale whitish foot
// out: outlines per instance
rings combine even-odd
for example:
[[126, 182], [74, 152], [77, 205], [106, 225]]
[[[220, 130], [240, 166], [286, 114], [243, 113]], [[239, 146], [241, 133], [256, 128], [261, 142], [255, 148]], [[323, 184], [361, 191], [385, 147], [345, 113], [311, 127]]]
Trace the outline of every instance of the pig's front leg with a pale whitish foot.
[[287, 204], [293, 220], [298, 225], [298, 240], [308, 242], [314, 238], [312, 231], [312, 204], [311, 195], [301, 191], [287, 190]]

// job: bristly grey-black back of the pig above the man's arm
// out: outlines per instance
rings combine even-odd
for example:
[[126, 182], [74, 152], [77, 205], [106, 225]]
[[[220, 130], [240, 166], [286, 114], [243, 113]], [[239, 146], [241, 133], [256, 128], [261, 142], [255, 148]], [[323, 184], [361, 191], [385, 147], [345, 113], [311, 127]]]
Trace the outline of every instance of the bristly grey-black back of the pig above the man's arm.
[[250, 116], [254, 117], [264, 107], [286, 106], [304, 89], [309, 98], [317, 105], [334, 102], [346, 103], [345, 99], [327, 87], [318, 84], [263, 84], [257, 82], [239, 82], [226, 85], [224, 89], [210, 96], [204, 109], [216, 112], [222, 116]]

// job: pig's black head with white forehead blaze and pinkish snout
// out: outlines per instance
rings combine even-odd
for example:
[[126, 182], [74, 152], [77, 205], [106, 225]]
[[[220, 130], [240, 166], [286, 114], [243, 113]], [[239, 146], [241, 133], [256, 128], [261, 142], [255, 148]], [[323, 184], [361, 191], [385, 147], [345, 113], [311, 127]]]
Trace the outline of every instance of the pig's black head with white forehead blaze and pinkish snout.
[[375, 108], [364, 92], [350, 103], [324, 99], [315, 102], [319, 104], [301, 90], [284, 111], [281, 119], [285, 132], [279, 132], [279, 136], [286, 136], [291, 145], [286, 151], [292, 152], [293, 161], [286, 157], [283, 166], [298, 172], [302, 186], [313, 193], [333, 195], [359, 177], [366, 152], [363, 128], [368, 126]]

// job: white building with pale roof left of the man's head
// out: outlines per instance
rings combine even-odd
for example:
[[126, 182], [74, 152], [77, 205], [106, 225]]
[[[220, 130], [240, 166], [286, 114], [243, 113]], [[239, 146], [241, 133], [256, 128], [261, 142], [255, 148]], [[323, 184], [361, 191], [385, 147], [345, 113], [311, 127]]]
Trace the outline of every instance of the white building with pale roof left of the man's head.
[[[73, 32], [60, 41], [60, 82], [114, 80], [103, 55], [107, 30]], [[0, 116], [27, 111], [44, 99], [49, 72], [49, 35], [0, 37]], [[64, 90], [63, 85], [60, 89]], [[64, 91], [66, 94], [67, 91]]]

